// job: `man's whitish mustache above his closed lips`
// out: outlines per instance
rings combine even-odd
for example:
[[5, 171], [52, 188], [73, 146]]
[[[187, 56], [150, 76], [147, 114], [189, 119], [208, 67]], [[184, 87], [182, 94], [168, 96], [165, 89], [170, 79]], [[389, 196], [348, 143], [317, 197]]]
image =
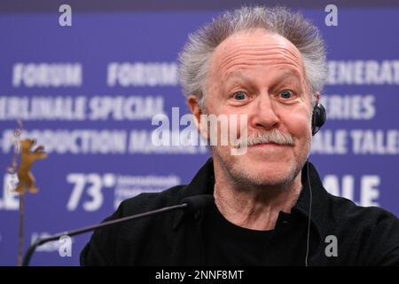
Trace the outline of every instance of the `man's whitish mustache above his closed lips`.
[[293, 146], [293, 136], [291, 134], [283, 134], [277, 129], [257, 132], [254, 135], [248, 136], [246, 141], [239, 143], [238, 147], [254, 146], [258, 144], [275, 143], [278, 145]]

